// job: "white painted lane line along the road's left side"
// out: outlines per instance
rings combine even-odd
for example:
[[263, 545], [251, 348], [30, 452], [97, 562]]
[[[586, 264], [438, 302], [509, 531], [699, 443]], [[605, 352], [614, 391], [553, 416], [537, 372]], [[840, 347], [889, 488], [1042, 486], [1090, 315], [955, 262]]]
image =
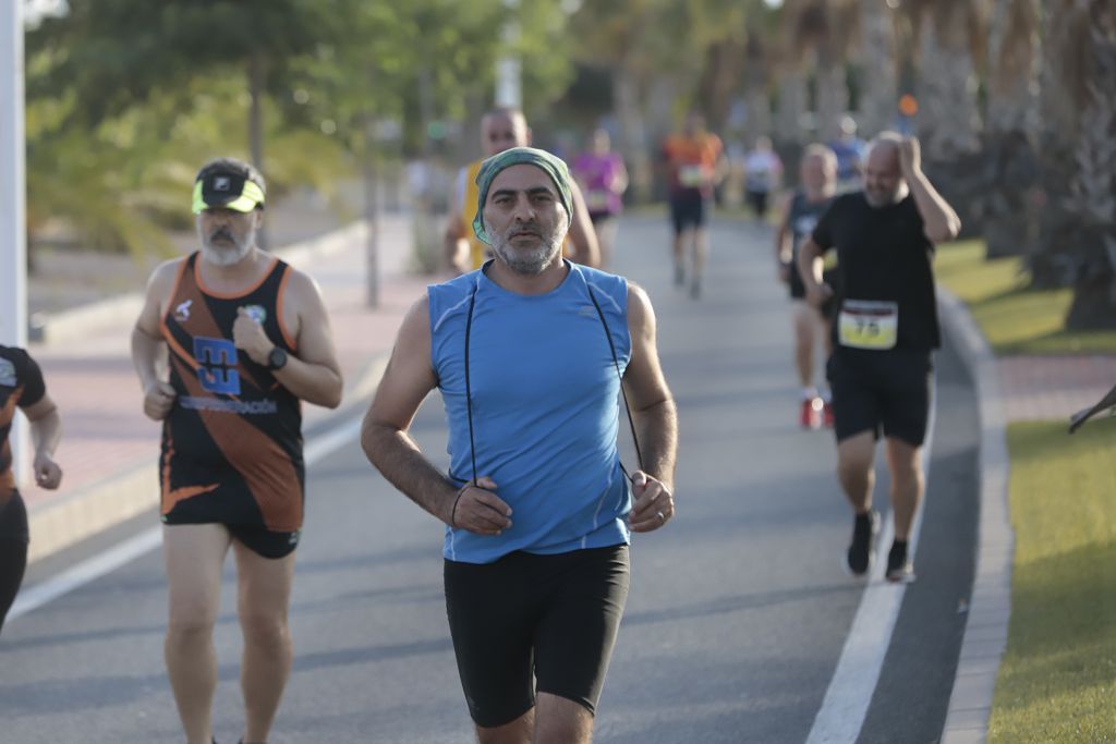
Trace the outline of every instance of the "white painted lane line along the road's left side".
[[[354, 418], [340, 426], [330, 428], [328, 432], [319, 434], [312, 441], [308, 442], [306, 448], [302, 451], [307, 467], [340, 450], [346, 444], [354, 442], [359, 436], [359, 433], [360, 419]], [[107, 573], [112, 573], [122, 566], [155, 550], [162, 544], [163, 528], [162, 525], [153, 526], [118, 545], [87, 558], [56, 577], [20, 591], [16, 603], [12, 605], [11, 610], [8, 612], [8, 621], [10, 622], [22, 615], [32, 612], [62, 595], [69, 593], [90, 581], [96, 581]]]

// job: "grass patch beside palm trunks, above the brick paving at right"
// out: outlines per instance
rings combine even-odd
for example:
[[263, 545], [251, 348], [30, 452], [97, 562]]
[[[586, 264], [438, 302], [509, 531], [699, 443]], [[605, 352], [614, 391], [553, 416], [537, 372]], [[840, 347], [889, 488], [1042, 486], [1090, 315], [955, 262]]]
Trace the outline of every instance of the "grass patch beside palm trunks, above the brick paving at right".
[[1019, 258], [984, 260], [984, 243], [939, 248], [937, 280], [969, 306], [997, 354], [1116, 352], [1116, 331], [1064, 328], [1072, 290], [1029, 290]]

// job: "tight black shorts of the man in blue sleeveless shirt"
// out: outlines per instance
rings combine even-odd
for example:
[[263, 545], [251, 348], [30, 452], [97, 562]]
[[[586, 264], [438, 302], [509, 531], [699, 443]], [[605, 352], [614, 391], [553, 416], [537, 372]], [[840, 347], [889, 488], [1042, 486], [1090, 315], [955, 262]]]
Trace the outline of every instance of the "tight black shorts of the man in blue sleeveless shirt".
[[478, 726], [519, 718], [535, 706], [536, 688], [596, 712], [627, 601], [627, 545], [448, 560], [444, 577], [458, 673]]

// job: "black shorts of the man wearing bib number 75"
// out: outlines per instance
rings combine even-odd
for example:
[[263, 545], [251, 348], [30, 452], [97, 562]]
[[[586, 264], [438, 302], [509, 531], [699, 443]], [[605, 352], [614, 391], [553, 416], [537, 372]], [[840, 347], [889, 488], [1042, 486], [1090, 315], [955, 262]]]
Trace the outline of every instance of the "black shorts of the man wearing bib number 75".
[[920, 447], [930, 421], [931, 352], [872, 351], [837, 346], [826, 365], [833, 388], [837, 441], [862, 432], [895, 437]]

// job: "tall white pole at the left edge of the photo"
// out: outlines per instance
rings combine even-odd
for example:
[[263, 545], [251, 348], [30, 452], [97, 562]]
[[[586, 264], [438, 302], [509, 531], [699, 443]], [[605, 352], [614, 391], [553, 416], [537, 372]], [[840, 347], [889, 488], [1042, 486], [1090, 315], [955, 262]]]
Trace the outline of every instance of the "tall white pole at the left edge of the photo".
[[[0, 11], [0, 344], [27, 346], [27, 225], [23, 144], [23, 0]], [[16, 482], [23, 466], [27, 424], [17, 416], [9, 441]]]

